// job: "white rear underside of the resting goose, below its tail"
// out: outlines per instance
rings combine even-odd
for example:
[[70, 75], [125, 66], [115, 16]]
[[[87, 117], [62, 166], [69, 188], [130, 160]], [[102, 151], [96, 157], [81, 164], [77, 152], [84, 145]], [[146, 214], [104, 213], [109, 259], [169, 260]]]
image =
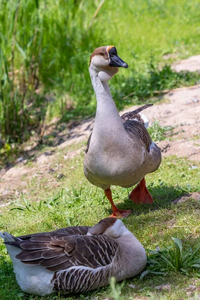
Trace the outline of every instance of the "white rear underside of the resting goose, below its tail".
[[16, 280], [20, 288], [27, 293], [46, 295], [54, 292], [52, 277], [53, 272], [40, 265], [28, 265], [15, 258], [21, 250], [17, 247], [6, 245], [13, 263]]

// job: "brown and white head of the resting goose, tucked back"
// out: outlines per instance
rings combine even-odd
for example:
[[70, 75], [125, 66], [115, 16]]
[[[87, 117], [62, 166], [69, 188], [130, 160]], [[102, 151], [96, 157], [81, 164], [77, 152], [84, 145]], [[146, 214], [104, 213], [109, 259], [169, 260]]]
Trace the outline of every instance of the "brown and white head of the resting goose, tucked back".
[[130, 233], [130, 231], [125, 227], [120, 219], [115, 217], [106, 217], [100, 220], [93, 227], [89, 228], [87, 235], [105, 234], [113, 238], [118, 238], [127, 233]]

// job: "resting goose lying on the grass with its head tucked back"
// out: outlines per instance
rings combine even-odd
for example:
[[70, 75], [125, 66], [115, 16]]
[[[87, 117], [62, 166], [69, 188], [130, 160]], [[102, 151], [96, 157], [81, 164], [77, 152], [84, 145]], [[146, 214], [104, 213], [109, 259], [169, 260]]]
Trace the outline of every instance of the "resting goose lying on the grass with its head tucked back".
[[14, 237], [0, 232], [21, 289], [37, 295], [83, 292], [132, 277], [146, 265], [141, 243], [121, 220]]

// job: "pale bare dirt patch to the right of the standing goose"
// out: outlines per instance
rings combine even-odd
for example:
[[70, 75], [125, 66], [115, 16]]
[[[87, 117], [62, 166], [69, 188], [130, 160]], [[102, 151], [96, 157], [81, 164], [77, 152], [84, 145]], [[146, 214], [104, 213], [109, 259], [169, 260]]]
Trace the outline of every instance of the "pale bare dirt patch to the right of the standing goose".
[[[145, 111], [149, 125], [155, 118], [160, 125], [173, 126], [171, 140], [158, 142], [162, 156], [187, 156], [191, 160], [200, 159], [200, 87], [171, 90], [163, 96], [167, 101], [153, 105]], [[124, 111], [137, 108], [132, 106]]]

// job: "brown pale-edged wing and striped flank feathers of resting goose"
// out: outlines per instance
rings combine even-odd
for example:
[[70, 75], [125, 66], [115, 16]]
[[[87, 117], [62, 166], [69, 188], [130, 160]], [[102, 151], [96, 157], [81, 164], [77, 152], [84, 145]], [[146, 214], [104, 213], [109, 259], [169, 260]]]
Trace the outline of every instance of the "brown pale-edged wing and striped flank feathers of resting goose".
[[[113, 220], [107, 226], [111, 224]], [[16, 258], [53, 271], [55, 290], [78, 292], [108, 284], [111, 272], [117, 271], [112, 261], [120, 254], [119, 244], [104, 234], [85, 235], [89, 228], [67, 227], [20, 236], [21, 240], [13, 241], [21, 248]]]

